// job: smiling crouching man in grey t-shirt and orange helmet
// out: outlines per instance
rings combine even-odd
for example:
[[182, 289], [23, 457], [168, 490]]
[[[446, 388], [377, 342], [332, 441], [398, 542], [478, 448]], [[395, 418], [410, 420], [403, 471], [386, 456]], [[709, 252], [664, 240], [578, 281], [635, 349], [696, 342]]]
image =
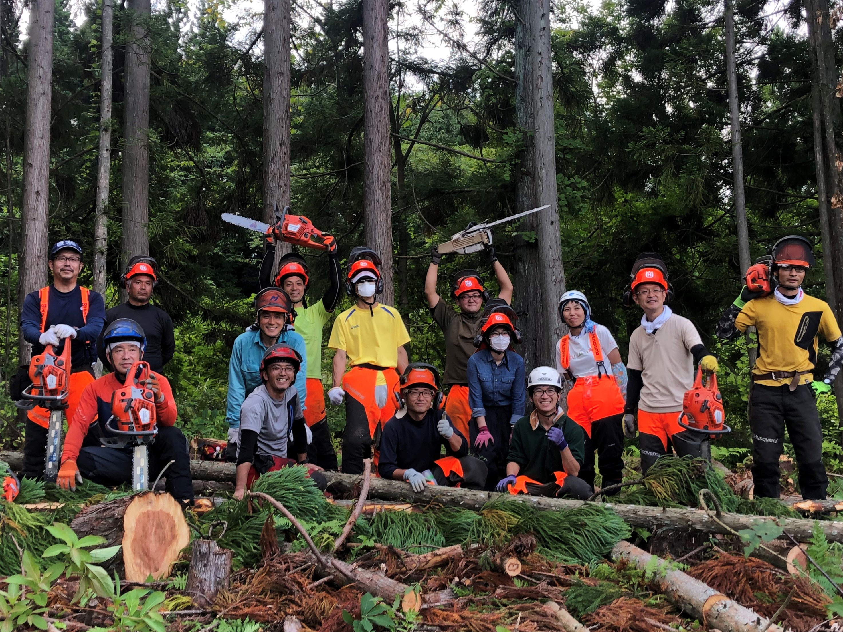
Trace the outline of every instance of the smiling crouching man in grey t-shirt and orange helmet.
[[[260, 380], [240, 408], [239, 451], [234, 498], [243, 500], [260, 474], [275, 472], [290, 465], [307, 465], [310, 477], [320, 490], [328, 486], [318, 474], [319, 466], [308, 461], [307, 431], [304, 413], [295, 387], [302, 366], [302, 356], [287, 345], [272, 345], [260, 361]], [[296, 457], [287, 458], [290, 436]]]

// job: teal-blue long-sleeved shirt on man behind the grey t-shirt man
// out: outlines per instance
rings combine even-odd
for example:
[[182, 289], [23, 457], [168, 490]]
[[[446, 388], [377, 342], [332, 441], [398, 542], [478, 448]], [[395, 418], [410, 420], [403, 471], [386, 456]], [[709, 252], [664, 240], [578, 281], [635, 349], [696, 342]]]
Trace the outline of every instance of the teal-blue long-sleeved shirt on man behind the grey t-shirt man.
[[[288, 345], [302, 356], [302, 366], [296, 374], [295, 387], [299, 393], [299, 402], [304, 408], [304, 396], [307, 393], [308, 356], [301, 334], [288, 329], [278, 336], [278, 342]], [[260, 361], [266, 353], [266, 347], [260, 341], [260, 329], [248, 330], [234, 340], [231, 361], [228, 362], [228, 401], [226, 402], [225, 420], [229, 428], [240, 427], [240, 407], [244, 399], [263, 382], [260, 379]]]

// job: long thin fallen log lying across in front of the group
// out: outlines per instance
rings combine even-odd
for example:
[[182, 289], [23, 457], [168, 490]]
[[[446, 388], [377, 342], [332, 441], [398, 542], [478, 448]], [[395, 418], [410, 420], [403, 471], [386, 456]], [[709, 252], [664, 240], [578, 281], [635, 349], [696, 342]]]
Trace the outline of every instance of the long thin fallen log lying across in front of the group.
[[[352, 495], [355, 483], [360, 479], [354, 474], [340, 474], [339, 472], [325, 472], [328, 480], [328, 490], [335, 494]], [[560, 509], [575, 509], [583, 506], [585, 501], [570, 501], [563, 498], [545, 498], [544, 496], [497, 494], [490, 491], [463, 490], [455, 487], [441, 487], [425, 485], [419, 493], [413, 492], [410, 485], [399, 480], [372, 479], [369, 484], [368, 496], [384, 501], [405, 501], [429, 505], [438, 503], [444, 506], [459, 506], [465, 509], [478, 510], [491, 500], [506, 498], [513, 502], [521, 502], [535, 509], [558, 511]], [[629, 522], [633, 527], [653, 530], [657, 527], [705, 531], [707, 533], [730, 533], [726, 528], [717, 524], [701, 509], [670, 509], [665, 507], [651, 507], [640, 505], [619, 505], [610, 502], [600, 505], [615, 511], [618, 516]], [[815, 525], [825, 533], [825, 538], [831, 542], [843, 542], [843, 522], [814, 522], [801, 518], [773, 518], [764, 516], [744, 516], [738, 513], [723, 513], [720, 520], [735, 531], [751, 529], [765, 522], [775, 522], [787, 533], [800, 541], [807, 541], [813, 535]]]

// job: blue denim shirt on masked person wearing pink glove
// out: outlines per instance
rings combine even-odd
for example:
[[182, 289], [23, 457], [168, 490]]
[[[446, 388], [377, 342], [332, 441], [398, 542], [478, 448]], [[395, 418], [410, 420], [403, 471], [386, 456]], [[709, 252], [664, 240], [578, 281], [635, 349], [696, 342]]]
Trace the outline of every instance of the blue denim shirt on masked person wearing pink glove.
[[485, 406], [512, 406], [513, 418], [524, 416], [527, 388], [524, 383], [524, 358], [507, 351], [500, 364], [483, 349], [469, 358], [469, 405], [472, 417], [486, 416]]

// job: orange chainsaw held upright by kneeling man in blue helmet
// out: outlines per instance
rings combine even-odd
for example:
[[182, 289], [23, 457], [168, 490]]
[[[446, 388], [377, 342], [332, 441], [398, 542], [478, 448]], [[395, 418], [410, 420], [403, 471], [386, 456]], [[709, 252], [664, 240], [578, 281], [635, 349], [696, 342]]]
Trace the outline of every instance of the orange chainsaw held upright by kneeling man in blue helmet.
[[105, 430], [117, 437], [104, 437], [100, 442], [118, 449], [132, 446], [132, 490], [148, 489], [148, 445], [158, 434], [155, 413], [155, 393], [146, 381], [150, 374], [149, 362], [135, 362], [126, 373], [122, 388], [111, 395], [111, 416]]

